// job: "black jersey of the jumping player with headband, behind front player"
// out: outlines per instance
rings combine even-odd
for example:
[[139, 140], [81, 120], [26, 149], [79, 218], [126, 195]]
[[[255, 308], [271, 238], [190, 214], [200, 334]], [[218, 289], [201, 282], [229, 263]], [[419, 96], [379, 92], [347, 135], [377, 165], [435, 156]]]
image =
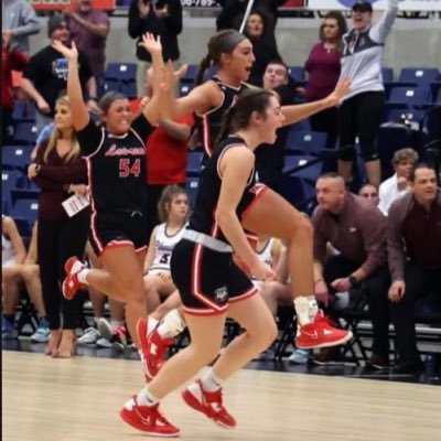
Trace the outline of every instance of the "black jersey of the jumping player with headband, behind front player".
[[234, 106], [239, 94], [248, 88], [245, 83], [243, 83], [239, 87], [229, 86], [228, 84], [223, 83], [217, 76], [214, 76], [212, 80], [217, 84], [224, 96], [222, 104], [218, 107], [209, 109], [204, 115], [194, 114], [196, 130], [202, 142], [202, 147], [208, 157], [212, 155], [213, 149], [215, 148], [214, 143], [216, 142], [217, 135], [219, 133], [225, 111]]

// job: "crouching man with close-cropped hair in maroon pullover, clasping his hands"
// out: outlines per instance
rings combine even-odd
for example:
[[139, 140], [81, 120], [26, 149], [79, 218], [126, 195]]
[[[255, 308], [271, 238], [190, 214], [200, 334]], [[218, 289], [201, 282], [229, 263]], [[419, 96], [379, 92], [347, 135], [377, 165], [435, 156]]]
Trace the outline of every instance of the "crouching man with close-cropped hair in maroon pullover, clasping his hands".
[[[315, 297], [329, 306], [335, 301], [335, 292], [362, 288], [374, 327], [368, 366], [385, 368], [389, 359], [386, 219], [369, 201], [347, 192], [343, 178], [336, 173], [320, 176], [315, 191], [319, 203], [312, 215]], [[340, 254], [326, 258], [327, 244]]]

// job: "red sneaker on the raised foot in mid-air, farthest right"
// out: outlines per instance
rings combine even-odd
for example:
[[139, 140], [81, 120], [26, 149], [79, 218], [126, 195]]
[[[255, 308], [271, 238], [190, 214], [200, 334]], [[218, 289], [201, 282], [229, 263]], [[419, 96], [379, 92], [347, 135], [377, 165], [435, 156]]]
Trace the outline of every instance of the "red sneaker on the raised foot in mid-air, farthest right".
[[313, 323], [298, 326], [295, 346], [302, 349], [314, 347], [337, 346], [352, 338], [352, 332], [331, 325], [329, 320], [319, 311]]

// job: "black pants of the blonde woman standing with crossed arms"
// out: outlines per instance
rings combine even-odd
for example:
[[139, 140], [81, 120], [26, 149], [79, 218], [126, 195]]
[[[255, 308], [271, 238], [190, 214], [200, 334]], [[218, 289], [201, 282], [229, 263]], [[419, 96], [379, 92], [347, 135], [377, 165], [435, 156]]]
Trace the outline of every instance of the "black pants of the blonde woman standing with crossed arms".
[[61, 291], [65, 277], [64, 262], [71, 256], [83, 258], [89, 226], [88, 213], [78, 213], [68, 219], [39, 219], [37, 256], [43, 289], [44, 308], [51, 330], [74, 330], [79, 316], [80, 299], [66, 300]]

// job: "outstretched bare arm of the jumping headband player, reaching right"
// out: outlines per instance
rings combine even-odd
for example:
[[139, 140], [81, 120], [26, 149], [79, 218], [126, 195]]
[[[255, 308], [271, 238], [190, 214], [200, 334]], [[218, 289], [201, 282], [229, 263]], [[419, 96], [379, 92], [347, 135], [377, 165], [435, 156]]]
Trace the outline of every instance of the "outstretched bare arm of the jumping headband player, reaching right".
[[343, 78], [336, 85], [335, 89], [325, 98], [318, 101], [282, 106], [282, 112], [286, 118], [284, 126], [298, 122], [302, 119], [315, 115], [316, 112], [338, 105], [340, 100], [346, 95], [351, 87], [351, 79]]

